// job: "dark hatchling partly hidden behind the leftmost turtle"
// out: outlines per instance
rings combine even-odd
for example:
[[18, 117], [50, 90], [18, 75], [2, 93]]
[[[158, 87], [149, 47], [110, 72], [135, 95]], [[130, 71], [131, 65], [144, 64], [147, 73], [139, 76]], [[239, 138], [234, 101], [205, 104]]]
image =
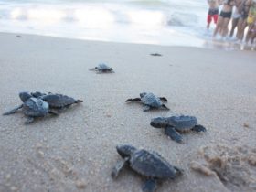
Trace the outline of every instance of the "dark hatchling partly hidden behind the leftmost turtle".
[[32, 92], [31, 95], [34, 97], [40, 98], [43, 101], [48, 102], [49, 108], [52, 110], [62, 111], [68, 108], [70, 105], [82, 102], [81, 100], [75, 100], [72, 97], [62, 94], [53, 94], [53, 93], [41, 93], [41, 92]]

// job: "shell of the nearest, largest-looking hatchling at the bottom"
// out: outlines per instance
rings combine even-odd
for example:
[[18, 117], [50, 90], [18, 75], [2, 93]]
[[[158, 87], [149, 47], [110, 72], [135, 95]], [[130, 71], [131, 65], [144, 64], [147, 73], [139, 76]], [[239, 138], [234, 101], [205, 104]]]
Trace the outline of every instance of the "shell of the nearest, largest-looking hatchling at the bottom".
[[161, 155], [146, 150], [137, 150], [130, 158], [131, 168], [147, 177], [174, 178], [176, 169], [170, 165]]

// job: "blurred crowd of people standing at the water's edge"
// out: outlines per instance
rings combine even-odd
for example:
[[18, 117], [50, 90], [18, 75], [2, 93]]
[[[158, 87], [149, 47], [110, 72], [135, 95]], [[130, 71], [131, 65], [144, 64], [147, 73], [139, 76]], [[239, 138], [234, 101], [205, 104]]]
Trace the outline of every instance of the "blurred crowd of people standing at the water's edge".
[[208, 0], [208, 6], [207, 27], [212, 21], [216, 24], [213, 38], [232, 39], [251, 45], [254, 43], [256, 0]]

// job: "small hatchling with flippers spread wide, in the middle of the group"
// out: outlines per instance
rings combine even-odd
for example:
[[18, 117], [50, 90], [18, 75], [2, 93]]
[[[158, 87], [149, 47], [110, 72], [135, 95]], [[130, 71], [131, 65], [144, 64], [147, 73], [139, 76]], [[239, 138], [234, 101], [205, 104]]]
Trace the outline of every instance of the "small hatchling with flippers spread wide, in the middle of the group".
[[126, 102], [129, 101], [142, 101], [144, 104], [144, 112], [151, 109], [170, 110], [165, 106], [165, 104], [163, 104], [163, 101], [167, 101], [165, 97], [155, 97], [155, 95], [151, 92], [142, 92], [140, 93], [140, 98], [126, 100]]

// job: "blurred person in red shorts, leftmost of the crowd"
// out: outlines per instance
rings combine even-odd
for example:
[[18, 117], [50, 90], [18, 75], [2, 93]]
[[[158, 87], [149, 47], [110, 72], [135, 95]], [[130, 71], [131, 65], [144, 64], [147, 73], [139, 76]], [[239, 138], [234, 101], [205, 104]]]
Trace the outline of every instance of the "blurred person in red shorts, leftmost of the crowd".
[[209, 28], [211, 20], [217, 24], [219, 16], [219, 0], [208, 0], [208, 18], [207, 18], [207, 28]]

